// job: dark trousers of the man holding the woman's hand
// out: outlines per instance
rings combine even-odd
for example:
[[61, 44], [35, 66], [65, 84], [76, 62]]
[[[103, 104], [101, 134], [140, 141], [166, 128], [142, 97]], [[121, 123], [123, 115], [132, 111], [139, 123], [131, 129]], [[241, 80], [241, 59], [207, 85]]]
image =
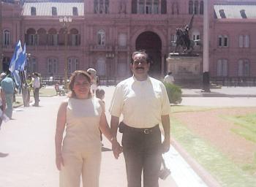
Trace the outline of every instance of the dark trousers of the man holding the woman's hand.
[[128, 187], [141, 186], [142, 170], [143, 187], [158, 187], [162, 147], [159, 126], [154, 127], [149, 134], [124, 129], [122, 145], [127, 167]]

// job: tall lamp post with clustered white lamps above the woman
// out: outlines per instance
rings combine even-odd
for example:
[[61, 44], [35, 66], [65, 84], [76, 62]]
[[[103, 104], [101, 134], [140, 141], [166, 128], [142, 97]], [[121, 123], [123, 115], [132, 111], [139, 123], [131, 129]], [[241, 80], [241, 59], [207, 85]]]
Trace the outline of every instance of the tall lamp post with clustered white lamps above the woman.
[[67, 89], [67, 34], [69, 25], [72, 22], [72, 18], [67, 18], [66, 16], [64, 16], [64, 18], [59, 18], [59, 22], [62, 23], [65, 34], [64, 88]]

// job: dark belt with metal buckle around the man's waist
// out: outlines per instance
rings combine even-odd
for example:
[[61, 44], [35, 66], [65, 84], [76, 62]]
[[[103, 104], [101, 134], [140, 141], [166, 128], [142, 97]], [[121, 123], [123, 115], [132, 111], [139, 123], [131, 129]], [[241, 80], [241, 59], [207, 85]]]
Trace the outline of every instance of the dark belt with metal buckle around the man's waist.
[[135, 128], [135, 127], [131, 127], [131, 126], [127, 126], [125, 123], [121, 122], [119, 124], [119, 131], [121, 133], [123, 132], [138, 132], [138, 133], [141, 133], [141, 134], [152, 134], [154, 133], [154, 131], [157, 131], [159, 129], [159, 125], [155, 125], [151, 128]]

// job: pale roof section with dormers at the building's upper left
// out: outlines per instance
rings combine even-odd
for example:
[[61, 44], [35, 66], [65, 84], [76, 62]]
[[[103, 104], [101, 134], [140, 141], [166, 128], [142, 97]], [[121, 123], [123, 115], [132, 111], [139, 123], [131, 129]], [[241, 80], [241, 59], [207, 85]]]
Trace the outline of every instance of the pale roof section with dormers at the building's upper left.
[[[42, 0], [40, 0], [42, 1]], [[56, 7], [57, 16], [64, 15], [73, 15], [73, 7], [78, 8], [78, 16], [84, 15], [84, 3], [83, 2], [60, 2], [60, 1], [47, 1], [47, 2], [25, 2], [23, 4], [23, 12], [22, 15], [29, 16], [31, 15], [31, 7], [36, 8], [36, 16], [52, 16], [52, 7]]]

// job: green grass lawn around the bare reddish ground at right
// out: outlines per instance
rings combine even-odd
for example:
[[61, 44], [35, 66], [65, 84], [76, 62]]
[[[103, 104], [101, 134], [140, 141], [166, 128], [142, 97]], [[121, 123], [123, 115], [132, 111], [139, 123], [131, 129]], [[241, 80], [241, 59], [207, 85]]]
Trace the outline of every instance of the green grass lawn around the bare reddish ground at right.
[[[211, 107], [173, 106], [172, 112], [195, 112], [211, 109]], [[248, 128], [248, 126], [254, 126], [255, 128], [255, 116], [243, 116], [238, 119], [233, 117], [231, 119], [239, 120], [241, 122], [239, 123], [240, 126], [243, 126], [244, 129], [246, 129], [246, 127]], [[246, 127], [244, 127], [243, 121], [246, 121]], [[255, 163], [240, 166], [228, 159], [227, 156], [214, 147], [214, 145], [211, 145], [210, 142], [201, 139], [197, 134], [187, 129], [187, 127], [176, 118], [172, 118], [171, 124], [172, 136], [199, 164], [208, 170], [222, 186], [256, 186], [255, 175], [252, 175], [252, 171], [256, 171], [253, 170]], [[248, 129], [248, 131], [252, 130], [253, 129]], [[256, 135], [254, 136], [256, 137]]]

